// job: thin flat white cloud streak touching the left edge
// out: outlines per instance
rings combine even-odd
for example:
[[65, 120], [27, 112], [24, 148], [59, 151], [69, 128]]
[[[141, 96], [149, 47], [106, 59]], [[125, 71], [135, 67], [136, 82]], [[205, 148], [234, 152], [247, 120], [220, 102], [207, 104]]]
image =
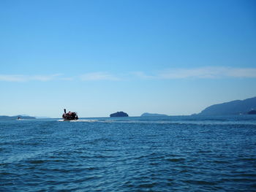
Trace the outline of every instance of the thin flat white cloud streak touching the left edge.
[[50, 75], [23, 75], [23, 74], [0, 74], [0, 81], [26, 82], [26, 81], [50, 81], [55, 80], [61, 74]]

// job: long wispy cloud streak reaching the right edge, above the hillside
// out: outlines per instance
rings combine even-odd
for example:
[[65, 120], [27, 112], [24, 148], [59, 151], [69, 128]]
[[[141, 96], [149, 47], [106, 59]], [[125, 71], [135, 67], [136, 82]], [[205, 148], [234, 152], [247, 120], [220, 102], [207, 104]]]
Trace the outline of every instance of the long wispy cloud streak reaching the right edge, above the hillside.
[[256, 68], [233, 68], [233, 67], [201, 67], [191, 69], [166, 69], [154, 75], [147, 75], [143, 72], [133, 73], [141, 79], [214, 79], [227, 77], [255, 78]]

